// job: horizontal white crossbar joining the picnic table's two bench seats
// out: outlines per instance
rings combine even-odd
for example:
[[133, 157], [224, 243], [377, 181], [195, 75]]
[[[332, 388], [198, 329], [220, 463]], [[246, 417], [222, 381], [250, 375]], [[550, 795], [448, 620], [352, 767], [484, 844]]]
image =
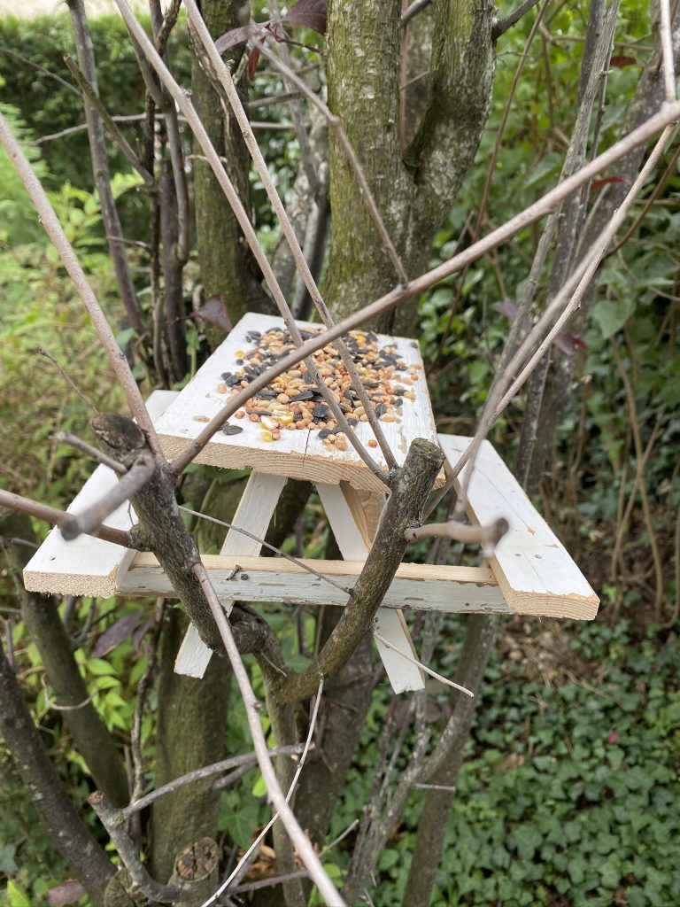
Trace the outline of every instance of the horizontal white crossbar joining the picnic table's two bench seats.
[[[282, 558], [206, 554], [202, 561], [220, 599], [308, 605], [344, 606], [347, 603], [344, 592]], [[332, 576], [347, 589], [354, 586], [364, 568], [364, 561], [312, 560], [307, 563], [316, 571]], [[241, 570], [232, 577], [237, 566]], [[171, 595], [172, 586], [156, 558], [141, 552], [121, 578], [118, 592], [128, 596]], [[401, 564], [387, 590], [383, 607], [467, 614], [514, 613], [489, 568], [432, 564]]]

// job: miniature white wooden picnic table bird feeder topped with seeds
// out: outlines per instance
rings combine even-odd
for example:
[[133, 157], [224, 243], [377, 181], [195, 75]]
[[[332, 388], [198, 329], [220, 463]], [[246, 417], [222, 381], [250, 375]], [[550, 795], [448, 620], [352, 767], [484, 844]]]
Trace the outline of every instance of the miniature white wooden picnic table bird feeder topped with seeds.
[[[298, 327], [305, 332], [320, 329], [299, 323]], [[417, 342], [370, 332], [357, 332], [348, 342], [397, 463], [403, 463], [417, 437], [438, 441], [449, 461], [455, 463], [470, 439], [437, 434]], [[179, 394], [155, 391], [148, 406], [163, 453], [170, 459], [182, 453], [219, 412], [228, 395], [248, 385], [289, 346], [281, 318], [248, 314], [184, 390]], [[326, 384], [337, 385], [336, 395], [364, 446], [368, 444], [376, 461], [384, 465], [380, 451], [374, 448], [364, 411], [346, 375], [338, 373], [334, 357], [335, 350], [326, 347], [317, 354], [317, 365], [327, 378]], [[262, 539], [287, 479], [314, 483], [345, 560], [308, 563], [318, 573], [338, 580], [338, 585], [351, 587], [371, 547], [384, 505], [384, 486], [345, 438], [336, 434], [336, 428], [334, 433], [330, 413], [316, 385], [307, 381], [304, 366], [273, 382], [248, 406], [235, 414], [226, 431], [215, 434], [196, 458], [198, 463], [228, 469], [252, 469], [232, 525]], [[300, 422], [304, 427], [298, 426]], [[81, 512], [117, 481], [112, 470], [98, 466], [69, 512]], [[390, 646], [380, 639], [376, 644], [395, 692], [423, 688], [422, 672], [413, 663], [413, 643], [404, 610], [484, 611], [582, 620], [597, 614], [598, 599], [588, 581], [488, 441], [481, 445], [475, 463], [467, 513], [473, 524], [486, 525], [500, 516], [510, 524], [490, 566], [403, 563], [376, 614], [375, 633]], [[133, 515], [130, 507], [123, 505], [105, 522], [130, 529]], [[346, 595], [338, 586], [290, 561], [260, 557], [261, 547], [259, 541], [230, 529], [219, 555], [203, 557], [227, 612], [235, 600], [346, 604]], [[84, 535], [64, 541], [57, 528], [27, 564], [24, 583], [28, 590], [69, 595], [173, 594], [153, 555]], [[200, 678], [211, 654], [191, 625], [175, 669]]]

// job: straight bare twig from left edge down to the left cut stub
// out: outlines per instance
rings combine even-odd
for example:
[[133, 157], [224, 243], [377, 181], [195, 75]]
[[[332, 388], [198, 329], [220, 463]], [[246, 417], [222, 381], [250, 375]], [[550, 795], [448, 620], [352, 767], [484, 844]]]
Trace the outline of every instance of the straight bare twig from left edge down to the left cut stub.
[[97, 297], [95, 297], [94, 291], [92, 290], [88, 279], [85, 277], [83, 267], [73, 251], [73, 246], [68, 239], [66, 239], [66, 234], [63, 232], [62, 225], [54, 212], [50, 200], [45, 194], [40, 180], [35, 176], [31, 164], [27, 161], [19, 142], [16, 141], [14, 134], [7, 126], [5, 117], [2, 113], [0, 113], [0, 141], [2, 141], [8, 157], [15, 167], [15, 171], [21, 177], [29, 196], [34, 203], [45, 232], [59, 252], [59, 257], [62, 259], [63, 266], [73, 280], [73, 287], [76, 289], [78, 296], [83, 300], [83, 305], [87, 309], [88, 315], [92, 318], [92, 324], [102, 341], [102, 346], [104, 347], [106, 355], [112, 363], [113, 370], [127, 397], [128, 404], [130, 405], [132, 414], [137, 420], [137, 424], [139, 424], [141, 430], [146, 435], [151, 450], [154, 453], [161, 455], [159, 440], [153, 428], [153, 424], [151, 423], [151, 417], [144, 405], [140, 389], [131, 373], [128, 361], [125, 358], [121, 347], [118, 346], [118, 343], [116, 342], [116, 338], [102, 312]]

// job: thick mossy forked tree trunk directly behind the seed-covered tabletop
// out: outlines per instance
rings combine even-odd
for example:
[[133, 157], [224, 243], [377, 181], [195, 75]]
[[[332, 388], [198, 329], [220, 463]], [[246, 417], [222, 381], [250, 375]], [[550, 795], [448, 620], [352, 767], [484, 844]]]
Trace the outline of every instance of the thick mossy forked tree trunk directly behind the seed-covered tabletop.
[[[489, 0], [436, 5], [428, 102], [403, 158], [398, 134], [400, 8], [396, 0], [362, 5], [331, 0], [328, 103], [345, 126], [407, 272], [415, 274], [423, 269], [432, 236], [471, 166], [489, 113], [493, 5]], [[397, 281], [333, 135], [330, 200], [326, 301], [335, 317], [345, 317]], [[380, 327], [409, 333], [414, 312], [414, 306], [400, 307]]]

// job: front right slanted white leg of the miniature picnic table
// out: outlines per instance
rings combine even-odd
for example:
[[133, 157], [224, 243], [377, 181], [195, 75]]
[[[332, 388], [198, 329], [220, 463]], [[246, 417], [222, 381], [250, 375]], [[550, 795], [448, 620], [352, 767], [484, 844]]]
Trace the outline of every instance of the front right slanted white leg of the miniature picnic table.
[[[370, 542], [366, 538], [367, 524], [362, 520], [364, 514], [354, 489], [321, 482], [316, 483], [316, 489], [340, 553], [347, 561], [365, 561]], [[379, 608], [375, 612], [374, 629], [397, 649], [414, 656], [411, 634], [400, 613]], [[380, 639], [375, 639], [375, 645], [395, 693], [424, 688], [423, 674], [417, 665], [403, 658], [398, 651], [389, 649]]]

